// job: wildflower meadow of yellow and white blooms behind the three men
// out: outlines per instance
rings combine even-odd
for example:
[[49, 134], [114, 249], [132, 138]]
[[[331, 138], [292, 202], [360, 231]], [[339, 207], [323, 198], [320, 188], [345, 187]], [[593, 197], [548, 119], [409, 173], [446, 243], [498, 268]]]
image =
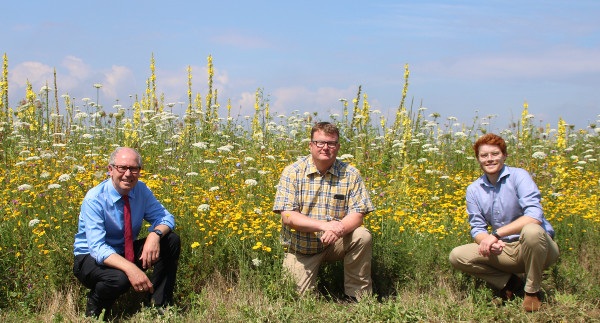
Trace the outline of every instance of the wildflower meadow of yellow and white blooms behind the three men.
[[[391, 116], [366, 93], [331, 105], [338, 114], [270, 110], [263, 89], [254, 113], [236, 115], [213, 88], [192, 93], [185, 113], [156, 92], [100, 104], [60, 93], [55, 79], [21, 102], [8, 100], [8, 58], [0, 79], [0, 319], [83, 321], [85, 287], [72, 274], [73, 240], [85, 193], [107, 178], [115, 147], [140, 151], [140, 180], [176, 217], [182, 254], [176, 305], [162, 317], [129, 292], [116, 320], [167, 321], [589, 321], [600, 319], [600, 127], [575, 129], [562, 118], [541, 125], [526, 102], [500, 131], [508, 165], [528, 170], [556, 230], [559, 261], [545, 272], [545, 307], [522, 299], [498, 305], [482, 281], [453, 270], [448, 254], [471, 241], [465, 190], [481, 175], [472, 152], [496, 116], [461, 121], [407, 99], [409, 69]], [[202, 82], [205, 82], [204, 80]], [[95, 100], [94, 100], [95, 99]], [[179, 105], [180, 103], [177, 103]], [[590, 112], [593, 113], [593, 112]], [[596, 111], [595, 113], [598, 113]], [[594, 117], [595, 118], [595, 117]], [[600, 118], [600, 116], [598, 116]], [[298, 296], [281, 271], [280, 217], [271, 211], [283, 168], [309, 153], [316, 121], [341, 131], [338, 158], [355, 165], [376, 211], [374, 292], [345, 304], [343, 265], [322, 267], [319, 295]], [[600, 120], [598, 121], [600, 125]], [[142, 230], [142, 236], [145, 235]]]

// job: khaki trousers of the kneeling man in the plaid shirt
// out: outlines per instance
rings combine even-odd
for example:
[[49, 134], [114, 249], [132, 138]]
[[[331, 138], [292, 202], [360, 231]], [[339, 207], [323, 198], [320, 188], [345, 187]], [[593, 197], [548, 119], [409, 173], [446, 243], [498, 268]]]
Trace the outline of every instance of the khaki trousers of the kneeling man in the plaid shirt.
[[371, 255], [371, 233], [364, 227], [358, 227], [318, 254], [286, 252], [283, 267], [296, 281], [298, 292], [303, 294], [315, 288], [319, 267], [323, 261], [343, 259], [345, 293], [360, 298], [373, 290]]

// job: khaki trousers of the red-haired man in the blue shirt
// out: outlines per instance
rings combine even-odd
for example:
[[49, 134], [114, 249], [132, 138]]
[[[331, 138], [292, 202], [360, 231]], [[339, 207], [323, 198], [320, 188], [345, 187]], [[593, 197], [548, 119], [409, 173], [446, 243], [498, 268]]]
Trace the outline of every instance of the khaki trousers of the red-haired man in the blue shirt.
[[525, 274], [525, 292], [540, 290], [542, 272], [558, 259], [558, 245], [537, 224], [527, 224], [521, 230], [519, 241], [509, 242], [500, 255], [484, 257], [479, 244], [470, 243], [450, 252], [450, 263], [459, 270], [472, 274], [502, 289], [512, 274]]

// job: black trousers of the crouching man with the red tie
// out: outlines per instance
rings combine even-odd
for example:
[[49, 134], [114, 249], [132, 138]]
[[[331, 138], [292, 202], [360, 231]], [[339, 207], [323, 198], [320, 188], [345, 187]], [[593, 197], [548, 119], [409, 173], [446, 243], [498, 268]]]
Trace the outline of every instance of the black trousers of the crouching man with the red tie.
[[[138, 259], [142, 254], [145, 242], [145, 238], [133, 242], [135, 264], [140, 268], [142, 262]], [[181, 241], [174, 232], [169, 232], [160, 240], [160, 254], [158, 261], [154, 263], [154, 274], [152, 275], [154, 287], [152, 302], [158, 306], [173, 303], [173, 289], [175, 288], [180, 250]], [[90, 289], [88, 302], [93, 302], [101, 308], [109, 309], [117, 298], [131, 287], [131, 283], [123, 271], [99, 265], [89, 254], [75, 256], [73, 274], [85, 287]]]

